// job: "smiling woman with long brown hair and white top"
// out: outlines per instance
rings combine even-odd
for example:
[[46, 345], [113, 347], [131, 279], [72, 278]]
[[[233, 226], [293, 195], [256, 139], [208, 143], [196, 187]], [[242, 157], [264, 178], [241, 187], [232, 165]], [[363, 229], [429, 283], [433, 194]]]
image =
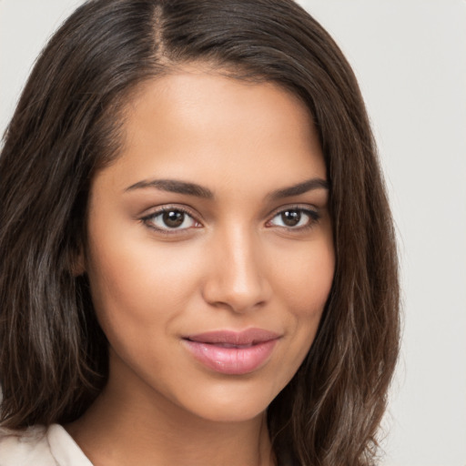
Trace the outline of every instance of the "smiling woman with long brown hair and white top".
[[0, 173], [2, 466], [375, 461], [390, 210], [356, 80], [299, 5], [87, 2]]

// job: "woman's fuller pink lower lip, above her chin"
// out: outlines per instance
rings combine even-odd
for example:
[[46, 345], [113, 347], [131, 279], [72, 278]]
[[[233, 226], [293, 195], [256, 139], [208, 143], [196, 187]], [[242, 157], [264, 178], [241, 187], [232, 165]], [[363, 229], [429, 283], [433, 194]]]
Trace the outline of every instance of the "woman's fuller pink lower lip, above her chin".
[[260, 369], [270, 357], [278, 339], [243, 348], [224, 348], [186, 339], [187, 349], [208, 369], [222, 374], [242, 375]]

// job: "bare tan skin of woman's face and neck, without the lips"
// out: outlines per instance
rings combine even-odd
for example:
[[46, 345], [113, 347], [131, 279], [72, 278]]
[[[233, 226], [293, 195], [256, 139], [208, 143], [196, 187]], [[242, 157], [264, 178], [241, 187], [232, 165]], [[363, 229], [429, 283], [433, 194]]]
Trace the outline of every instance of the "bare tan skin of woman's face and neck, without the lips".
[[[266, 410], [308, 353], [334, 274], [328, 189], [270, 194], [326, 180], [309, 111], [274, 84], [184, 68], [138, 90], [124, 130], [121, 156], [92, 183], [79, 270], [110, 375], [66, 428], [96, 466], [273, 464]], [[150, 185], [159, 179], [212, 198]], [[181, 228], [160, 208], [185, 210]], [[279, 339], [242, 375], [209, 369], [183, 341], [250, 328]]]

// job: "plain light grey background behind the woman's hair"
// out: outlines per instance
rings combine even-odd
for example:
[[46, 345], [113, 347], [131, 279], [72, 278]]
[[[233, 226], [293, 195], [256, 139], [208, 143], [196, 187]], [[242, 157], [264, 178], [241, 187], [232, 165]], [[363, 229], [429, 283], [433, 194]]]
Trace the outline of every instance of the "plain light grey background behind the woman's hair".
[[[0, 0], [0, 131], [80, 3]], [[383, 465], [466, 466], [466, 1], [300, 3], [360, 79], [399, 230], [405, 325]]]

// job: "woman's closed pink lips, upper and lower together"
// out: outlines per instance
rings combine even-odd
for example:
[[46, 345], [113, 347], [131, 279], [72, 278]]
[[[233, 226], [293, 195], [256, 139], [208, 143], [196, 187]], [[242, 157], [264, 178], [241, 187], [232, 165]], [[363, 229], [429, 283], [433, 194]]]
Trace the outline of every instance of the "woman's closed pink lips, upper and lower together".
[[209, 369], [224, 374], [248, 374], [271, 355], [279, 335], [264, 329], [209, 331], [185, 338], [187, 349]]

